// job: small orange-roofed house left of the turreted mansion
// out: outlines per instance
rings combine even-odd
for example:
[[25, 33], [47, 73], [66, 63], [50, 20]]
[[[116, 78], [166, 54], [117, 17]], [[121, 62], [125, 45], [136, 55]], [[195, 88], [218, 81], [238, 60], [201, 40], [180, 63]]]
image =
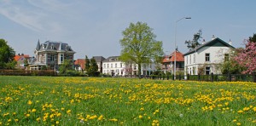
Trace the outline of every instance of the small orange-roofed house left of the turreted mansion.
[[26, 69], [25, 63], [29, 60], [28, 54], [16, 54], [14, 59], [17, 62], [17, 69]]

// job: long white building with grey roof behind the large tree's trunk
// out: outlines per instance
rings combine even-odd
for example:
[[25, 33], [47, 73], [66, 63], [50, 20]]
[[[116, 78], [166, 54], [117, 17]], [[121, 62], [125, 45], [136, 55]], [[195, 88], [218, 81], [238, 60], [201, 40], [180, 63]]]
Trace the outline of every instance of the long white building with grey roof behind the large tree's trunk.
[[[137, 75], [137, 64], [125, 63], [119, 60], [119, 56], [110, 56], [108, 59], [102, 61], [102, 73], [111, 76], [125, 76]], [[142, 75], [149, 75], [155, 71], [154, 64], [143, 64], [141, 73]]]

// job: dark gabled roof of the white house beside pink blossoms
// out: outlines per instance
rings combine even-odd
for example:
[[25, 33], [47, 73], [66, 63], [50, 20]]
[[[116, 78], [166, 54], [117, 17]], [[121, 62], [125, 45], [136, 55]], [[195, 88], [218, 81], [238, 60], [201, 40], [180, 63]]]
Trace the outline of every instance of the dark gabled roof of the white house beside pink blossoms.
[[216, 37], [207, 43], [201, 44], [200, 46], [196, 47], [195, 49], [189, 50], [189, 52], [184, 55], [195, 53], [195, 51], [198, 51], [198, 50], [202, 49], [203, 47], [230, 47], [232, 49], [235, 49], [229, 43], [226, 43], [223, 40], [221, 40], [220, 38]]

